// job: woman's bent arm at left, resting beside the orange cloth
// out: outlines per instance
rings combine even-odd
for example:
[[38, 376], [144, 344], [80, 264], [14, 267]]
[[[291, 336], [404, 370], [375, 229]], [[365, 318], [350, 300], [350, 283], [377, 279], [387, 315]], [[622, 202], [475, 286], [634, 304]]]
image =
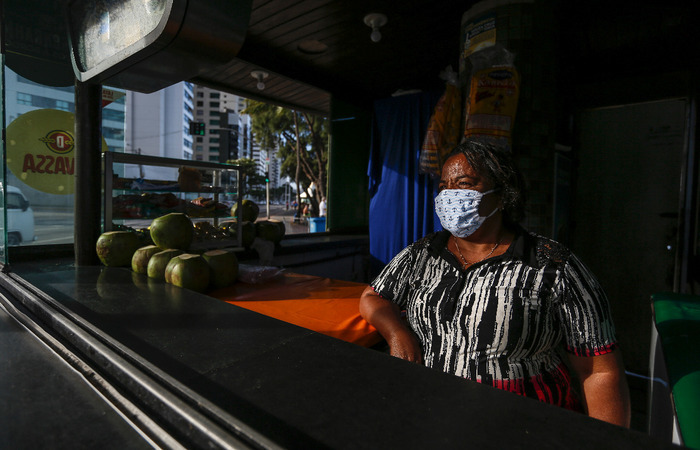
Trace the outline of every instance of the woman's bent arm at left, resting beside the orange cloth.
[[392, 356], [423, 363], [418, 338], [401, 318], [396, 304], [380, 297], [368, 286], [360, 298], [360, 314], [386, 339]]

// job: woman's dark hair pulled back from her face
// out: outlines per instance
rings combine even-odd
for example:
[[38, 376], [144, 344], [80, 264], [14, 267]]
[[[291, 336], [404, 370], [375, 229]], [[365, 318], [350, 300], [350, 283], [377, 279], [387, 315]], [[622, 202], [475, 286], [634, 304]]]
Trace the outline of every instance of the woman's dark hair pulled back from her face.
[[520, 222], [525, 216], [525, 181], [510, 150], [482, 141], [466, 140], [455, 147], [448, 158], [458, 154], [463, 154], [476, 172], [500, 189], [503, 220], [511, 225]]

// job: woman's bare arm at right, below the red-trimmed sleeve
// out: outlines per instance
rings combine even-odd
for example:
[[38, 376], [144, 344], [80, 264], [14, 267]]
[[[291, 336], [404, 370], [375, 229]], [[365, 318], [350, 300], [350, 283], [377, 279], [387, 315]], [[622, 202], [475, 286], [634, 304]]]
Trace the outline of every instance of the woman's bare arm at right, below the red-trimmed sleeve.
[[581, 380], [588, 415], [629, 428], [629, 388], [620, 351], [590, 357], [570, 354], [569, 361]]

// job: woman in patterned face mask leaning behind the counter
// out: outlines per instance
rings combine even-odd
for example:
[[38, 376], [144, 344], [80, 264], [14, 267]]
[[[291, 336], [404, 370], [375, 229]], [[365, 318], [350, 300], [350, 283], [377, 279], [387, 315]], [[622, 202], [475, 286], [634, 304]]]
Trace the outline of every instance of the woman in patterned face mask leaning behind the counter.
[[509, 153], [458, 146], [435, 198], [445, 231], [390, 261], [360, 312], [393, 356], [629, 426], [605, 293], [567, 248], [517, 224], [522, 187]]

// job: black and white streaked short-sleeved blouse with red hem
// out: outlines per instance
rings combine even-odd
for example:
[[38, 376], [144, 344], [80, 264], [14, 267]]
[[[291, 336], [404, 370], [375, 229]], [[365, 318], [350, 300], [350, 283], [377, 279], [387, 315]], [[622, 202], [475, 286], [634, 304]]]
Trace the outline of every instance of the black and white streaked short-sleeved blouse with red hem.
[[406, 310], [426, 366], [576, 409], [558, 349], [615, 348], [608, 300], [561, 244], [519, 230], [500, 256], [462, 269], [439, 232], [402, 250], [371, 283]]

